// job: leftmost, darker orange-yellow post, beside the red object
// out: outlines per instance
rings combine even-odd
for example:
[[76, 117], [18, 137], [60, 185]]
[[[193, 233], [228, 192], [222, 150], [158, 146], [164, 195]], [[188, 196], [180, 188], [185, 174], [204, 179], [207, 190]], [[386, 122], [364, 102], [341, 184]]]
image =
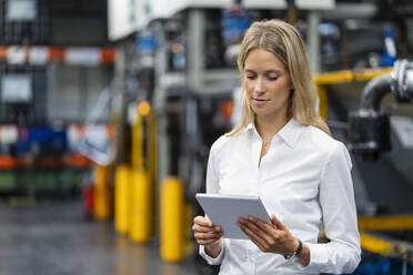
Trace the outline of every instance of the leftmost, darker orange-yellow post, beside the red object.
[[94, 165], [94, 216], [99, 221], [107, 221], [111, 215], [109, 176], [109, 166]]

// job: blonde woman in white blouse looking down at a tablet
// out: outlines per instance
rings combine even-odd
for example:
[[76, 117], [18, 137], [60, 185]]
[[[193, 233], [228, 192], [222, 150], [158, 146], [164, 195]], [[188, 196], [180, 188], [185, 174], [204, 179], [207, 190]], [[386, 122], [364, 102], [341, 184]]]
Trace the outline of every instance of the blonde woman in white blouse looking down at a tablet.
[[[253, 23], [241, 45], [240, 124], [211, 147], [206, 193], [260, 196], [272, 224], [240, 217], [245, 240], [194, 218], [200, 254], [220, 274], [352, 273], [360, 262], [351, 161], [316, 114], [302, 39], [279, 20]], [[324, 226], [329, 243], [319, 244]]]

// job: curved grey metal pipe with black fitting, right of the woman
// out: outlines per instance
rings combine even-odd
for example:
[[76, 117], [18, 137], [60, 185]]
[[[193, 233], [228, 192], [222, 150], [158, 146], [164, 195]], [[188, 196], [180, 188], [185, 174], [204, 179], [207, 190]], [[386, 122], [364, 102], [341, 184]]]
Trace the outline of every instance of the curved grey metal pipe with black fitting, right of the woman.
[[392, 73], [370, 81], [360, 109], [349, 114], [349, 149], [366, 161], [376, 161], [381, 152], [391, 150], [390, 115], [380, 110], [390, 92], [399, 103], [413, 103], [413, 62], [397, 60]]

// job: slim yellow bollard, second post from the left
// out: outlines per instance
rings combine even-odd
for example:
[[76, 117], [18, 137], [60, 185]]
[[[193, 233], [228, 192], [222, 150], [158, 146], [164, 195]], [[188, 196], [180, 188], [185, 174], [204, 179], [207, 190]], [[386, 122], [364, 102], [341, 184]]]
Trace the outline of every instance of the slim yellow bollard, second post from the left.
[[129, 228], [130, 173], [128, 165], [120, 165], [114, 172], [114, 228], [121, 234]]

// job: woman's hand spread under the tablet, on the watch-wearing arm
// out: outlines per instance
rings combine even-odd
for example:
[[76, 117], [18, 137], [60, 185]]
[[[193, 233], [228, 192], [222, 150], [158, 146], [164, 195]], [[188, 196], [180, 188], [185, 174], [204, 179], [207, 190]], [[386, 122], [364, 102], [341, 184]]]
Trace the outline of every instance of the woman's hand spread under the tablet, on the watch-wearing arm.
[[282, 255], [292, 255], [299, 247], [299, 241], [274, 216], [271, 215], [271, 224], [255, 216], [240, 217], [238, 226], [262, 251]]

